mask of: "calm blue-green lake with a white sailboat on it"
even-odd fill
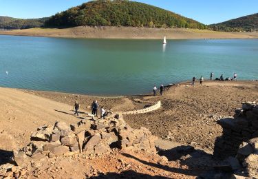
[[[0,36],[0,86],[78,94],[152,92],[224,74],[258,78],[258,40],[111,40]],[[6,74],[8,72],[8,74]],[[204,81],[205,83],[205,81]]]

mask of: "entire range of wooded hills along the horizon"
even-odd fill
[[[17,19],[0,16],[0,30],[28,28],[134,27],[190,28],[222,32],[253,32],[258,30],[258,13],[222,23],[204,25],[146,3],[127,0],[96,0],[58,12],[52,17]]]

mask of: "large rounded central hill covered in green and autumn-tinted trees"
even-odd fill
[[[83,3],[57,13],[45,21],[45,27],[79,25],[127,26],[149,28],[198,28],[206,25],[145,3],[126,0],[98,0]]]

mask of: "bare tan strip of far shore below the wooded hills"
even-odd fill
[[[89,27],[32,28],[0,31],[0,35],[82,39],[258,39],[258,32],[217,32],[185,28]]]

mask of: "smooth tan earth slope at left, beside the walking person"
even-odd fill
[[[14,138],[14,147],[21,147],[28,143],[30,132],[41,125],[53,123],[56,120],[67,123],[76,123],[80,120],[73,115],[72,105],[2,87],[0,88],[0,112],[0,132],[5,131]],[[2,148],[1,143],[0,148]]]

